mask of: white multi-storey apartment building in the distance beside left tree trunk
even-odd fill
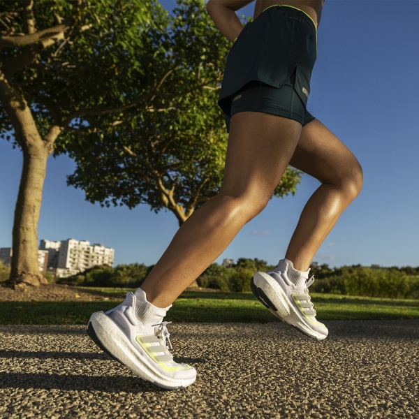
[[[112,266],[115,250],[87,240],[68,239],[62,242],[41,240],[40,248],[48,250],[48,270],[56,277],[71,277],[94,266]]]

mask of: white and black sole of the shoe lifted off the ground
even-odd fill
[[[293,304],[289,301],[281,286],[279,286],[277,281],[269,274],[265,274],[265,272],[256,272],[251,278],[250,286],[253,295],[269,309],[274,316],[286,323],[286,325],[291,326],[291,328],[312,339],[323,340],[328,336],[321,335],[319,332],[316,332],[316,330],[312,330],[309,328],[309,325],[291,323],[293,318],[298,318],[302,321],[302,318],[299,316],[299,309],[293,307]]]

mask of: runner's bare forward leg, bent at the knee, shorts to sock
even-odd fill
[[[360,193],[362,168],[318,119],[302,128],[290,164],[321,182],[302,210],[285,256],[296,270],[307,271],[340,214]]]

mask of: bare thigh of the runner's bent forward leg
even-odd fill
[[[362,186],[362,168],[351,150],[318,119],[305,125],[290,165],[322,183]]]

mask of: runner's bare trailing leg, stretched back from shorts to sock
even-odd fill
[[[220,192],[187,219],[141,288],[167,307],[263,210],[295,151],[301,124],[263,112],[233,115]]]

